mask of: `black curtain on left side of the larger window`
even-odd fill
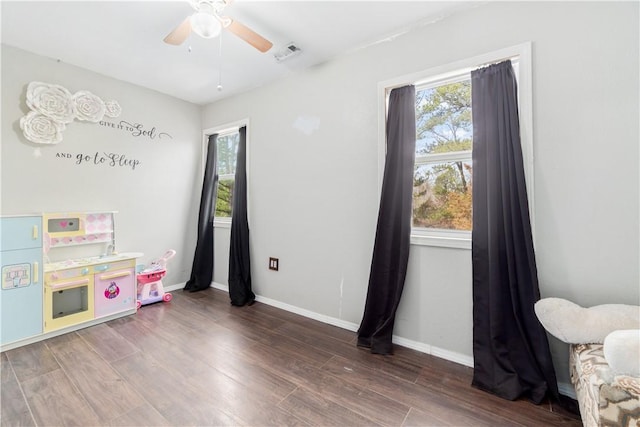
[[[409,260],[416,149],[414,86],[393,89],[387,115],[387,154],[369,288],[358,345],[392,354],[393,325]]]

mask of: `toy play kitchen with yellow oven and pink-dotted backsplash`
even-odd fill
[[[42,333],[1,351],[136,312],[139,252],[115,251],[116,212],[42,214]]]

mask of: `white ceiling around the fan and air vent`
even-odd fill
[[[475,3],[477,4],[477,3]],[[2,43],[174,97],[207,104],[426,25],[473,1],[235,0],[224,14],[273,42],[260,53],[228,31],[163,38],[193,13],[188,1],[6,1]],[[278,63],[294,42],[302,53]],[[222,84],[222,91],[217,90]]]

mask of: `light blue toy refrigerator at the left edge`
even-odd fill
[[[0,344],[42,333],[42,220],[0,218]]]

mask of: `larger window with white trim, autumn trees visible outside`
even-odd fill
[[[394,87],[416,87],[416,162],[411,244],[471,249],[471,71],[511,59],[518,80],[520,138],[533,218],[531,44],[524,43],[378,84],[380,123]],[[385,126],[379,126],[379,189],[384,174]]]

